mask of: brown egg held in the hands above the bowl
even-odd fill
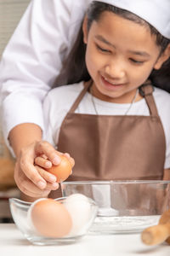
[[[61,162],[59,166],[52,166],[51,168],[46,169],[48,172],[54,174],[57,177],[57,182],[61,183],[65,181],[67,177],[71,175],[71,162],[66,158],[65,155],[60,155]]]

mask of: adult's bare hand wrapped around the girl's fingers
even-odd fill
[[[31,143],[23,148],[15,165],[14,179],[17,186],[21,192],[34,199],[48,196],[51,190],[59,188],[53,174],[43,170],[41,165],[35,166],[35,159],[43,154],[48,157],[49,167],[52,164],[59,165],[59,153],[50,143],[44,141]]]

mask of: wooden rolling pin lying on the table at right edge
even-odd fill
[[[170,244],[170,210],[161,215],[159,224],[145,229],[141,239],[146,245],[156,245],[163,241]]]

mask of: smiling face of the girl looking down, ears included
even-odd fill
[[[86,64],[94,80],[94,96],[107,102],[132,102],[136,89],[148,79],[153,68],[165,61],[150,29],[105,11],[87,29]],[[164,57],[163,57],[164,56]]]

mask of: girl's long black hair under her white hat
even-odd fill
[[[91,3],[88,8],[88,30],[90,29],[93,21],[98,21],[101,14],[105,11],[110,11],[116,15],[121,16],[122,18],[133,20],[142,26],[148,27],[150,29],[151,35],[156,37],[156,44],[161,49],[160,55],[167,48],[167,45],[170,44],[169,39],[163,37],[155,27],[151,26],[148,22],[141,19],[139,16],[134,15],[125,9],[120,9],[111,4],[100,3],[98,1]],[[85,54],[86,44],[83,43],[83,32],[81,26],[77,34],[77,40],[75,41],[75,44],[73,44],[70,54],[63,62],[63,67],[59,73],[58,78],[56,79],[54,87],[63,84],[79,83],[80,81],[88,81],[90,79],[90,75],[85,63]],[[170,58],[163,63],[161,69],[154,69],[150,73],[149,79],[154,86],[170,92]]]

